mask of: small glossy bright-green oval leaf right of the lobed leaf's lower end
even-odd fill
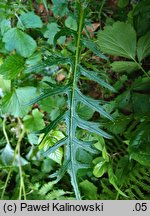
[[[100,158],[99,162],[94,166],[93,174],[100,178],[107,171],[107,162],[103,158]]]

